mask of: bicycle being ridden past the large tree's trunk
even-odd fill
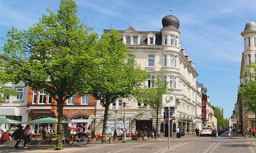
[[[72,145],[75,142],[75,138],[74,138],[75,134],[72,133],[71,136],[67,136],[64,139],[64,144],[65,145]],[[75,136],[76,137],[76,136]],[[79,139],[77,140],[77,142],[79,142],[81,145],[87,145],[90,141],[90,136],[86,135],[86,134],[82,134]]]

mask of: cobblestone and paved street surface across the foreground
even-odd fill
[[[170,149],[168,148],[168,138],[165,140],[148,140],[148,141],[127,141],[127,143],[120,143],[118,141],[114,144],[88,144],[81,146],[73,144],[71,146],[64,146],[64,150],[54,150],[54,145],[29,145],[28,149],[14,149],[12,146],[1,146],[1,153],[218,153],[218,152],[242,152],[242,153],[256,153],[256,139],[250,138],[245,140],[244,137],[234,137],[228,139],[227,132],[221,134],[219,138],[212,137],[182,137],[170,138]]]

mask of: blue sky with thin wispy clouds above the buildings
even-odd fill
[[[223,107],[228,118],[239,85],[243,38],[249,21],[256,22],[255,0],[76,0],[78,17],[94,32],[103,29],[160,31],[170,13],[180,20],[180,41],[195,62],[197,81],[208,88],[212,105]],[[60,0],[1,0],[1,37],[11,27],[26,30],[38,22],[46,8],[59,9]],[[3,42],[1,41],[1,46]]]

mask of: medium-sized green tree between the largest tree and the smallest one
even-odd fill
[[[109,105],[116,102],[117,98],[131,97],[135,89],[147,79],[147,74],[134,58],[129,59],[128,48],[118,31],[102,34],[96,52],[99,66],[90,74],[93,79],[88,83],[90,94],[105,107],[102,129],[102,144],[105,144]]]

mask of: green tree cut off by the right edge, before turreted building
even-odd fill
[[[240,94],[240,100],[242,101],[242,109],[246,112],[253,112],[255,114],[256,122],[256,63],[250,63],[247,65],[248,68],[253,70],[250,72],[244,68],[244,82],[241,83],[241,87],[238,89]]]

